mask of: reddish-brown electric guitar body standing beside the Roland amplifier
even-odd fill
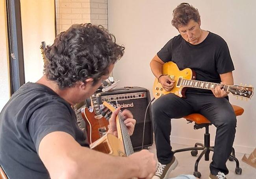
[[[83,120],[86,125],[86,132],[89,144],[92,144],[108,131],[108,120],[102,115],[96,115],[95,109],[90,112],[87,107],[82,109]]]

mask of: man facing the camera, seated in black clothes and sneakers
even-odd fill
[[[151,70],[163,89],[170,91],[175,83],[170,76],[162,74],[163,64],[169,61],[176,63],[180,70],[194,70],[194,79],[198,81],[233,85],[234,65],[226,42],[219,35],[200,28],[198,10],[188,3],[178,5],[173,16],[172,25],[180,35],[167,42],[150,62]],[[209,177],[226,179],[226,161],[236,132],[236,115],[227,95],[228,92],[220,86],[211,90],[188,88],[186,98],[168,93],[153,103],[153,127],[159,161],[154,179],[166,178],[178,164],[170,146],[171,118],[182,118],[195,112],[206,116],[217,127]]]

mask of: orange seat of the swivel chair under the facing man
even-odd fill
[[[240,116],[243,114],[243,108],[236,106],[236,105],[232,105],[236,116]],[[185,117],[183,117],[187,120],[191,120],[194,121],[197,124],[205,124],[205,123],[211,123],[206,117],[204,117],[202,114],[198,114],[198,113],[194,113],[194,114],[189,114]]]

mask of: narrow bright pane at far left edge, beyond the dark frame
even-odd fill
[[[0,0],[0,111],[10,98],[5,1]]]

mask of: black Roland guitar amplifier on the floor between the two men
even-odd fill
[[[144,118],[148,103],[150,102],[149,91],[141,87],[130,87],[115,89],[108,92],[100,92],[102,101],[109,101],[121,107],[121,110],[128,109],[136,119],[134,133],[131,136],[132,146],[135,150],[141,149],[143,142]],[[143,148],[152,146],[153,144],[153,127],[151,104],[148,107]]]

